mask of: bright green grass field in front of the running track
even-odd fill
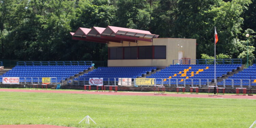
[[[248,99],[0,92],[0,125],[248,128],[255,108]],[[78,124],[86,115],[97,124]]]

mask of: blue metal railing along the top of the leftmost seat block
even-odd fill
[[[92,65],[92,61],[18,61],[17,66]]]

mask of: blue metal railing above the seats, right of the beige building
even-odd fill
[[[214,59],[181,59],[181,60],[172,60],[172,64],[182,64],[182,61],[186,61],[187,64],[214,64]],[[216,64],[242,64],[242,59],[216,59]]]

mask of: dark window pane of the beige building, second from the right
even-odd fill
[[[152,46],[140,46],[139,59],[152,59]]]

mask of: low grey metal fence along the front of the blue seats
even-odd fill
[[[65,83],[64,83],[65,82]],[[66,83],[67,82],[67,83]],[[62,84],[84,86],[90,85],[89,78],[78,78],[78,80],[68,80],[68,78],[51,77],[49,84]],[[0,82],[3,84],[3,82]],[[20,85],[42,84],[42,77],[19,77]],[[208,88],[214,85],[214,79],[164,79],[164,78],[103,78],[103,85],[125,86],[125,87],[153,87],[164,85],[166,87],[199,87]],[[256,89],[256,82],[253,79],[223,79],[217,81],[217,86],[224,88],[248,88]]]

